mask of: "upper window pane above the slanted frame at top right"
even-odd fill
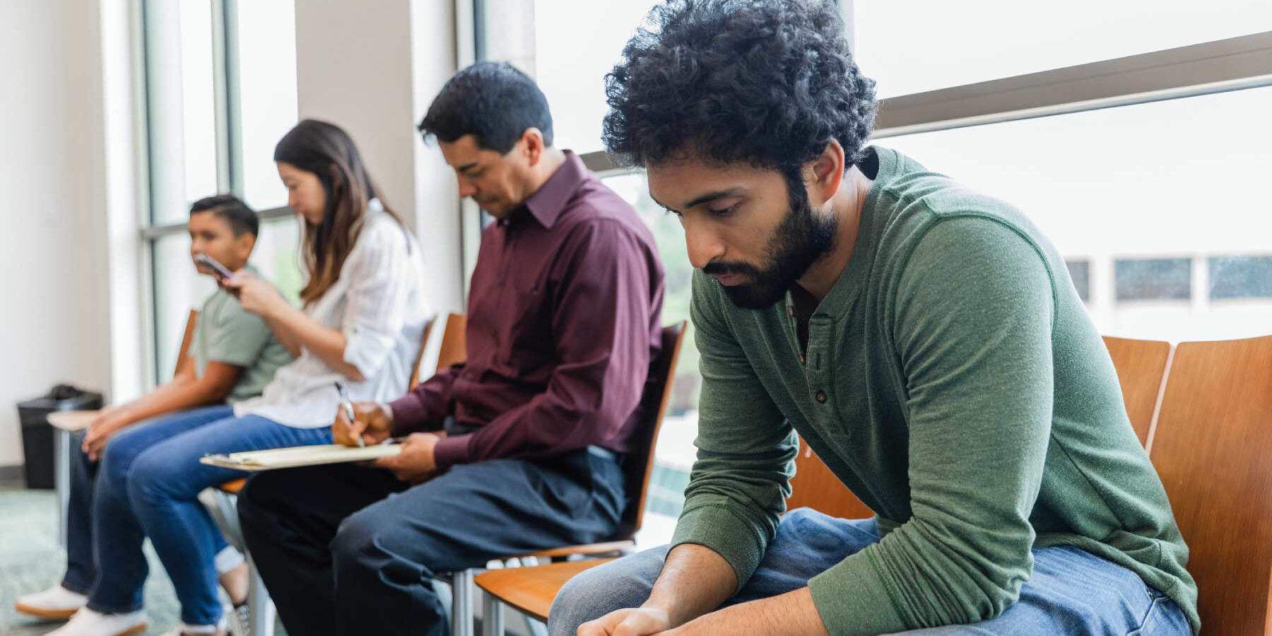
[[[880,97],[959,86],[1272,29],[1267,0],[851,0]]]

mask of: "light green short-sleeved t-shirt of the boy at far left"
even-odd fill
[[[254,273],[251,267],[248,271]],[[243,368],[225,398],[230,404],[259,396],[273,379],[273,371],[293,360],[265,321],[243,310],[238,299],[223,289],[209,296],[198,313],[191,355],[195,356],[195,374],[200,378],[207,363]]]

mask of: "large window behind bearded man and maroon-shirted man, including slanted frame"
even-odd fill
[[[558,145],[583,154],[653,229],[664,322],[687,317],[683,232],[641,173],[613,169],[599,139],[604,74],[655,3],[473,1],[477,59],[536,76]],[[1272,164],[1272,4],[838,5],[887,99],[875,142],[1023,210],[1065,257],[1102,332],[1180,341],[1269,331],[1272,215],[1252,192]],[[686,354],[658,446],[658,514],[678,511],[695,454],[692,337]]]

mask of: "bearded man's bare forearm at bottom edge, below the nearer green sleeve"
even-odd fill
[[[683,547],[683,546],[682,546]],[[813,594],[800,588],[777,597],[752,600],[701,616],[678,630],[677,636],[749,633],[753,636],[829,636],[813,604]]]

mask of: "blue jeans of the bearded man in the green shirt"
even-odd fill
[[[879,541],[874,519],[834,519],[801,508],[782,518],[777,536],[745,586],[726,605],[776,597]],[[552,636],[574,636],[579,625],[649,598],[668,548],[654,548],[575,576],[548,614]],[[1035,548],[1033,576],[1020,600],[973,625],[906,633],[929,636],[1063,633],[1117,636],[1191,635],[1183,611],[1135,572],[1074,547]],[[847,590],[846,593],[851,593]]]

